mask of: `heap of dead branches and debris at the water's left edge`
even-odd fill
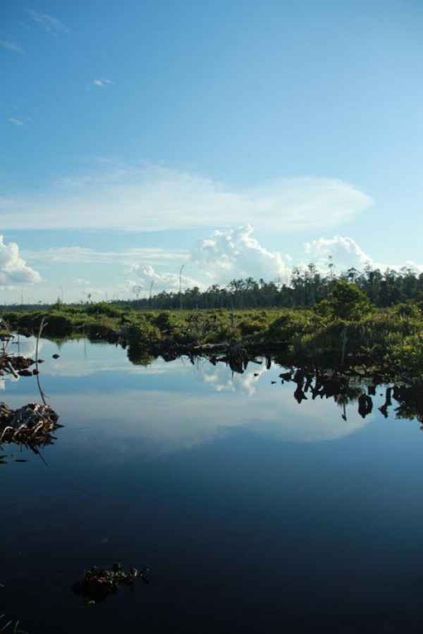
[[[16,442],[34,449],[37,445],[51,445],[56,440],[51,434],[63,427],[57,422],[59,415],[49,405],[28,403],[11,409],[0,403],[0,444]]]

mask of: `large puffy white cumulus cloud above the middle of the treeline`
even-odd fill
[[[250,225],[214,231],[194,244],[190,259],[206,271],[209,279],[221,282],[250,276],[273,280],[285,274],[287,267],[281,254],[262,247],[252,232]]]

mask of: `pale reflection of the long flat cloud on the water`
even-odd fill
[[[281,385],[272,387],[275,389],[257,390],[248,399],[243,392],[216,395],[124,390],[116,394],[80,394],[77,416],[75,397],[63,395],[55,400],[63,423],[69,420],[75,425],[75,418],[78,420],[73,442],[106,462],[124,461],[137,454],[160,456],[192,449],[240,428],[279,442],[337,440],[371,421],[370,417],[360,418],[355,406],[350,407],[348,419],[343,421],[340,409],[330,399],[298,405],[292,390]]]

